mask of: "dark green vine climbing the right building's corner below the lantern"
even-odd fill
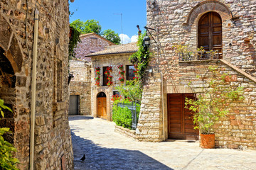
[[[149,49],[144,49],[143,47],[143,38],[145,35],[146,33],[143,33],[139,36],[139,40],[137,42],[139,50],[129,57],[130,62],[138,65],[139,80],[144,79],[146,68],[149,65],[149,59],[151,55]]]

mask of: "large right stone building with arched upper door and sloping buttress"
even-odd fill
[[[196,136],[182,107],[184,98],[203,93],[204,82],[197,75],[218,66],[231,77],[230,87],[244,87],[245,99],[232,103],[228,115],[215,125],[216,146],[255,149],[256,1],[147,0],[146,4],[147,26],[156,29],[149,31],[157,44],[151,44],[154,56],[149,69],[154,71],[147,74],[137,139],[160,142]],[[218,50],[218,57],[184,60],[174,45],[190,51],[201,46]],[[178,114],[173,112],[176,107]]]

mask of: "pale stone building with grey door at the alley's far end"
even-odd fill
[[[70,108],[69,115],[91,115],[92,62],[70,60]],[[88,104],[89,103],[89,104]]]

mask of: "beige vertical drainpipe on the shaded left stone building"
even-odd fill
[[[32,93],[31,93],[31,141],[30,141],[30,170],[33,170],[34,147],[35,147],[35,111],[36,111],[36,63],[38,46],[38,16],[39,11],[35,11],[34,43],[33,43],[33,69],[32,69]]]

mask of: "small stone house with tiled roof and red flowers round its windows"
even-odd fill
[[[137,52],[138,47],[137,43],[129,43],[126,45],[114,45],[108,47],[107,50],[102,50],[100,52],[95,52],[93,54],[87,55],[87,57],[92,58],[92,115],[94,117],[104,118],[106,120],[112,120],[112,96],[119,94],[115,86],[118,86],[122,82],[119,81],[121,75],[119,74],[119,69],[117,66],[123,65],[124,67],[124,79],[129,80],[134,77],[134,65],[129,62],[129,56],[134,52]],[[95,77],[96,67],[100,67],[100,83],[97,86]],[[112,85],[107,86],[107,76],[104,74],[107,70],[107,67],[112,67]]]

